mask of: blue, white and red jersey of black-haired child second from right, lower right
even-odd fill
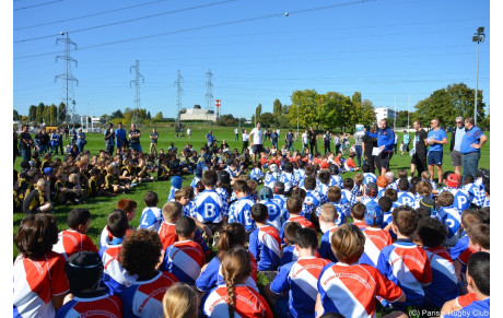
[[[457,278],[448,251],[442,246],[424,247],[432,268],[432,283],[425,290],[425,305],[442,307],[458,296]]]

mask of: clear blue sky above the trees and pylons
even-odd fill
[[[71,57],[79,114],[132,107],[136,60],[144,76],[141,107],[152,116],[176,116],[178,70],[183,107],[206,107],[209,69],[222,114],[249,118],[258,104],[272,111],[276,98],[290,104],[292,92],[305,89],[359,91],[375,106],[394,107],[396,97],[397,109],[408,108],[410,94],[412,109],[448,84],[475,89],[471,36],[479,26],[479,90],[489,104],[487,0],[14,0],[13,107],[27,115],[30,105],[61,102],[55,76],[63,62],[55,59],[63,45],[56,39],[69,32],[78,45]]]

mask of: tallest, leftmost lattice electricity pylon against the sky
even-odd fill
[[[63,121],[68,120],[68,109],[70,108],[70,104],[72,104],[71,108],[71,120],[73,122],[73,116],[75,115],[75,99],[73,96],[73,82],[77,82],[77,85],[79,85],[79,80],[77,80],[72,74],[71,74],[71,63],[70,62],[75,62],[75,68],[78,66],[77,60],[70,56],[70,45],[74,46],[74,49],[77,50],[77,44],[70,39],[68,36],[68,32],[61,32],[61,36],[65,37],[58,37],[56,39],[56,45],[58,45],[59,42],[65,43],[65,55],[63,56],[57,56],[56,57],[56,62],[59,59],[63,59],[63,73],[55,76],[55,83],[58,79],[62,80],[61,81],[61,101],[65,103],[63,108],[58,107],[58,116],[56,119],[57,123],[60,123],[59,118],[65,118]]]

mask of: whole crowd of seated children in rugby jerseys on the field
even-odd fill
[[[23,162],[14,317],[489,317],[487,170],[465,185],[447,174],[437,188],[428,173],[376,177],[369,165],[343,179],[354,163],[331,153],[262,153],[250,170],[247,153],[187,145],[182,157]],[[133,229],[137,202],[118,201],[98,247],[90,211],[73,209],[59,234],[38,213],[127,192],[153,173],[171,179],[167,202],[145,192]],[[259,273],[270,281],[261,292]]]

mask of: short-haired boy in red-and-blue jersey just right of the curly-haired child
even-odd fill
[[[196,222],[190,217],[182,216],[176,221],[175,229],[178,242],[166,248],[161,269],[169,271],[180,282],[194,285],[206,262],[201,246],[194,242]]]

